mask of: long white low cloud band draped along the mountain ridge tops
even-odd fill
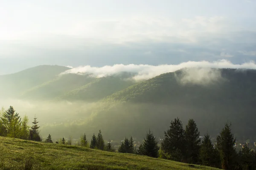
[[[232,62],[221,59],[214,62],[208,61],[189,61],[183,62],[178,65],[106,65],[104,67],[91,67],[90,65],[80,66],[77,68],[70,69],[65,71],[62,74],[91,74],[93,77],[107,77],[114,74],[118,74],[120,72],[133,72],[137,75],[133,77],[135,80],[143,80],[143,79],[150,79],[156,77],[160,74],[174,72],[181,68],[251,68],[256,69],[256,64],[252,62],[246,62],[243,64],[233,64]]]

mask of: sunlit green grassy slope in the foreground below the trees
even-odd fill
[[[0,170],[214,170],[164,159],[0,136]]]

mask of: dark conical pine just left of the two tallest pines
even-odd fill
[[[158,142],[155,139],[153,133],[151,133],[151,131],[149,130],[146,134],[146,139],[144,138],[143,142],[143,155],[157,158],[159,150],[157,143]]]

